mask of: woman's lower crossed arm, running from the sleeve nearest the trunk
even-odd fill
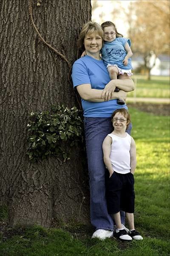
[[[104,102],[105,98],[102,98],[103,90],[92,89],[91,84],[80,84],[77,86],[77,91],[82,99],[85,99],[89,102]],[[126,99],[126,93],[123,90],[119,92],[111,93],[110,99]]]

